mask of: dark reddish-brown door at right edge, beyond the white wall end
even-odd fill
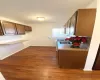
[[[100,45],[98,48],[97,56],[93,65],[93,70],[100,70]]]

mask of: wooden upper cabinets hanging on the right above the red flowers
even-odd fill
[[[94,23],[96,18],[96,9],[79,9],[74,15],[69,19],[70,26],[69,33],[70,35],[76,36],[92,36]],[[68,22],[69,22],[68,20]]]

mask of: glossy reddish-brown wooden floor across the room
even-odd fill
[[[55,48],[29,47],[0,61],[6,80],[100,80],[100,71],[60,69]]]

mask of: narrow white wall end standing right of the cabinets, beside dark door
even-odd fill
[[[84,70],[92,70],[99,44],[100,44],[100,0],[97,0],[96,21]]]

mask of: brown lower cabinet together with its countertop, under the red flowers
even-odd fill
[[[84,69],[89,44],[81,44],[80,48],[71,48],[71,44],[57,41],[57,62],[60,68]]]

